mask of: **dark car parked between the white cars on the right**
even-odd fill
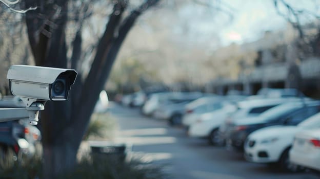
[[[232,130],[226,133],[227,146],[243,150],[251,132],[273,125],[296,125],[319,111],[319,101],[293,102],[271,108],[258,117],[235,121]]]

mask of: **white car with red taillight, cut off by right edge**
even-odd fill
[[[320,128],[298,132],[289,159],[294,164],[320,171]]]

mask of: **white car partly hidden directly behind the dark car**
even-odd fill
[[[226,140],[226,133],[233,128],[233,122],[239,119],[246,119],[249,117],[256,117],[262,114],[264,111],[275,107],[279,104],[283,104],[289,101],[299,101],[298,98],[261,98],[261,99],[251,99],[246,101],[241,101],[237,103],[237,110],[234,113],[228,115],[224,120],[217,124],[213,125],[216,129],[218,129],[218,141],[224,143]],[[206,125],[206,124],[202,124]],[[209,124],[207,124],[209,126]],[[212,127],[211,127],[212,128]]]

